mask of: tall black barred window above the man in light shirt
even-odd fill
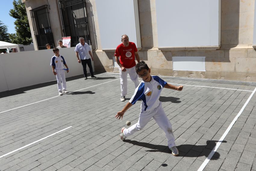
[[[64,36],[71,36],[71,46],[79,43],[79,37],[91,45],[85,0],[59,0]]]

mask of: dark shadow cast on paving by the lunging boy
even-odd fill
[[[150,144],[150,143],[146,143],[146,142],[138,142],[138,141],[129,140],[129,139],[126,139],[125,142],[128,142],[128,143],[133,144],[133,145],[137,145],[137,146],[152,149],[152,150],[146,150],[147,152],[171,153],[169,147],[166,146],[166,145],[154,145],[154,144]],[[201,157],[201,156],[208,157],[208,155],[211,153],[211,150],[216,145],[215,142],[219,142],[219,141],[207,140],[206,141],[207,145],[183,144],[183,145],[179,145],[179,146],[176,146],[176,147],[180,151],[180,154],[179,154],[180,157]],[[227,141],[222,141],[222,142],[227,142]],[[197,153],[189,152],[190,150],[197,151]],[[217,160],[217,158],[219,158],[219,157],[220,157],[220,154],[218,152],[215,152],[214,158],[212,158],[211,160]]]

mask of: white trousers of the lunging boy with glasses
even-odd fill
[[[141,112],[139,114],[138,122],[130,126],[128,129],[123,130],[124,136],[128,137],[130,135],[133,135],[135,132],[142,130],[146,126],[146,124],[151,120],[152,117],[156,121],[158,126],[164,130],[165,136],[168,141],[168,147],[171,148],[173,146],[176,146],[172,131],[172,124],[170,123],[169,119],[167,118],[164,112],[162,102],[160,102],[158,107],[156,107],[154,110],[148,112]]]

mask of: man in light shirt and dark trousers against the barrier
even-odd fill
[[[92,62],[91,62],[91,58],[93,61],[92,52],[91,52],[92,49],[90,48],[90,46],[87,43],[84,42],[83,37],[79,38],[79,42],[80,43],[78,43],[76,45],[75,51],[76,51],[77,61],[79,63],[82,63],[82,65],[83,65],[84,79],[87,79],[86,64],[89,67],[91,77],[96,78],[96,76],[93,75],[93,70],[92,70]],[[79,56],[80,56],[80,58],[79,58]],[[90,56],[91,56],[91,58],[90,58]]]

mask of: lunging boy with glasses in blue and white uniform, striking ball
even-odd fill
[[[127,136],[133,135],[135,132],[143,129],[153,117],[159,127],[164,130],[168,141],[168,147],[172,151],[172,154],[178,156],[179,151],[175,145],[172,125],[162,108],[162,102],[159,101],[159,97],[163,88],[181,91],[183,86],[180,85],[176,87],[168,84],[158,76],[151,76],[150,69],[144,61],[136,64],[135,69],[139,77],[142,78],[142,82],[140,82],[139,86],[136,88],[130,101],[126,104],[123,110],[117,112],[115,117],[117,119],[123,119],[124,113],[139,99],[142,100],[141,112],[136,124],[130,126],[128,129],[121,129],[120,138],[124,141]]]

